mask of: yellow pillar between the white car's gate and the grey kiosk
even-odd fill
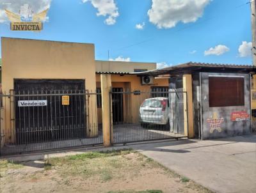
[[[188,134],[189,138],[193,138],[194,134],[194,116],[193,116],[193,93],[192,93],[192,75],[183,75],[183,91],[184,93],[184,134]],[[188,123],[188,124],[186,124]]]

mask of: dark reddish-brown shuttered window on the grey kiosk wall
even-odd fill
[[[209,107],[243,105],[243,77],[209,77]]]

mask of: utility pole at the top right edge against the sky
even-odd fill
[[[256,0],[252,0],[251,10],[252,10],[252,63],[256,66]]]

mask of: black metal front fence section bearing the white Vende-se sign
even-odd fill
[[[0,95],[0,155],[102,144],[98,95],[78,89]]]

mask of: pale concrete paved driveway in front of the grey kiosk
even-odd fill
[[[132,148],[215,192],[256,192],[256,135]]]

